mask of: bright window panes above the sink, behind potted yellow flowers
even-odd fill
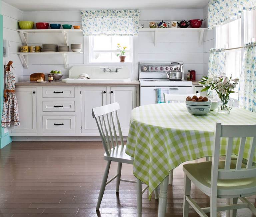
[[[90,62],[120,62],[117,44],[127,47],[125,62],[132,62],[132,36],[90,36]]]

